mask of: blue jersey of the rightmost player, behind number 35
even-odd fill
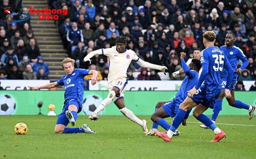
[[[234,70],[234,77],[238,77],[238,74],[235,72],[237,69],[236,65],[239,59],[241,59],[242,61],[246,60],[246,56],[244,55],[243,51],[236,46],[227,48],[226,45],[220,47],[220,50],[227,57],[232,69]],[[223,68],[221,76],[227,77],[228,71],[226,71],[226,69]]]

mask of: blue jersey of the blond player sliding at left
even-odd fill
[[[58,85],[65,86],[65,101],[77,99],[82,103],[84,97],[84,76],[88,75],[90,70],[74,69],[71,75],[65,75],[57,81]]]

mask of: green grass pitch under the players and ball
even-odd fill
[[[151,127],[150,116],[140,118]],[[77,126],[86,122],[96,134],[54,134],[55,121],[56,117],[49,116],[0,116],[0,159],[256,158],[256,118],[249,120],[248,116],[219,116],[219,123],[254,125],[219,125],[227,133],[219,143],[210,143],[213,132],[199,128],[198,123],[180,126],[181,135],[166,143],[156,136],[144,136],[142,129],[124,116],[100,116],[98,121],[79,116]],[[14,133],[18,122],[28,125],[26,135]],[[190,116],[188,122],[197,120]]]

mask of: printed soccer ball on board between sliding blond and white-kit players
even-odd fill
[[[84,98],[83,100],[84,114],[88,116],[91,115],[92,112],[94,112],[94,110],[98,108],[101,102],[102,102],[102,99],[99,96],[96,96],[96,95],[86,96],[86,98]],[[102,111],[99,114],[102,114]]]

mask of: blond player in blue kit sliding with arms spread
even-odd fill
[[[92,85],[96,83],[97,71],[74,69],[74,59],[65,58],[62,61],[62,67],[66,72],[57,82],[51,82],[43,86],[30,86],[29,90],[38,90],[44,88],[54,88],[59,85],[65,86],[65,102],[63,110],[58,116],[55,133],[95,133],[86,124],[81,128],[66,128],[68,123],[76,125],[77,114],[82,110],[82,100],[84,97],[84,76],[92,74]]]

